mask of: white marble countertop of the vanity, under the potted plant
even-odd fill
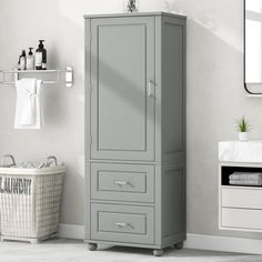
[[[229,162],[261,162],[262,141],[224,141],[219,142],[219,160]]]

